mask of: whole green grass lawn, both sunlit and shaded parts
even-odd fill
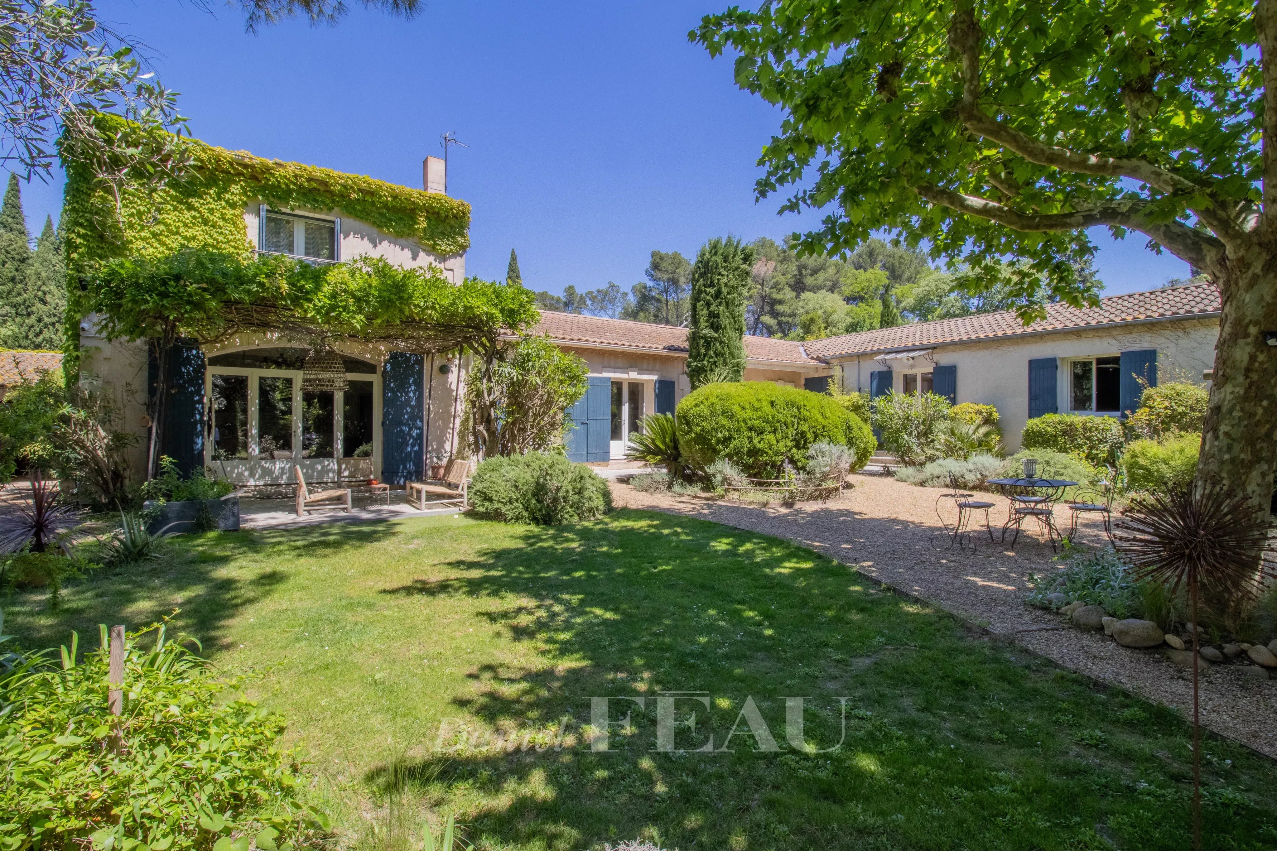
[[[442,517],[211,535],[68,588],[57,614],[38,593],[10,602],[6,632],[28,644],[181,607],[218,665],[262,671],[257,697],[289,717],[352,836],[393,801],[407,822],[455,811],[481,848],[1188,846],[1175,713],[713,523],[618,512],[559,528]],[[655,751],[660,690],[707,693],[707,709],[678,703],[679,720],[696,709],[679,748],[720,746],[752,697],[783,751],[755,753],[743,722],[733,753]],[[584,745],[593,695],[647,698],[614,753]],[[797,695],[821,748],[849,698],[839,750],[785,744]],[[513,750],[438,753],[446,718]],[[1205,754],[1205,847],[1277,846],[1273,763],[1211,736]]]

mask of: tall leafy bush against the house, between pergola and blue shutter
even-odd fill
[[[585,361],[549,337],[522,337],[503,347],[490,370],[466,383],[467,420],[475,425],[474,449],[515,455],[559,445],[567,411],[585,396]]]

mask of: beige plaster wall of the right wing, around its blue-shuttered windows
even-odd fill
[[[1073,329],[1025,336],[1019,339],[977,341],[937,346],[932,351],[936,364],[958,366],[958,402],[996,404],[1001,417],[1008,449],[1020,444],[1020,431],[1028,420],[1028,362],[1033,359],[1056,357],[1060,371],[1056,381],[1057,408],[1069,412],[1069,370],[1071,357],[1108,357],[1124,351],[1156,348],[1157,380],[1189,380],[1202,383],[1203,370],[1214,364],[1214,343],[1220,333],[1217,318],[1175,319],[1167,322],[1131,323],[1111,328]],[[867,392],[870,373],[881,369],[872,357],[840,359],[845,389]],[[890,361],[893,388],[904,389],[904,373],[930,371],[930,361]],[[857,371],[857,366],[859,367]]]

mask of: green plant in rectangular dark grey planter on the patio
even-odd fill
[[[197,470],[183,478],[172,458],[160,459],[160,475],[142,486],[147,531],[207,532],[239,529],[239,491],[222,478],[208,478]]]

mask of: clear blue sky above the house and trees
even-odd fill
[[[562,292],[642,279],[653,249],[801,230],[753,200],[779,110],[741,92],[732,60],[687,42],[711,3],[430,0],[405,23],[358,8],[336,27],[244,32],[238,10],[190,0],[101,0],[181,92],[193,133],[217,145],[421,185],[421,158],[453,130],[450,194],[474,207],[467,272]],[[57,217],[61,179],[26,188],[32,228]],[[1107,292],[1157,287],[1188,267],[1102,231]]]

